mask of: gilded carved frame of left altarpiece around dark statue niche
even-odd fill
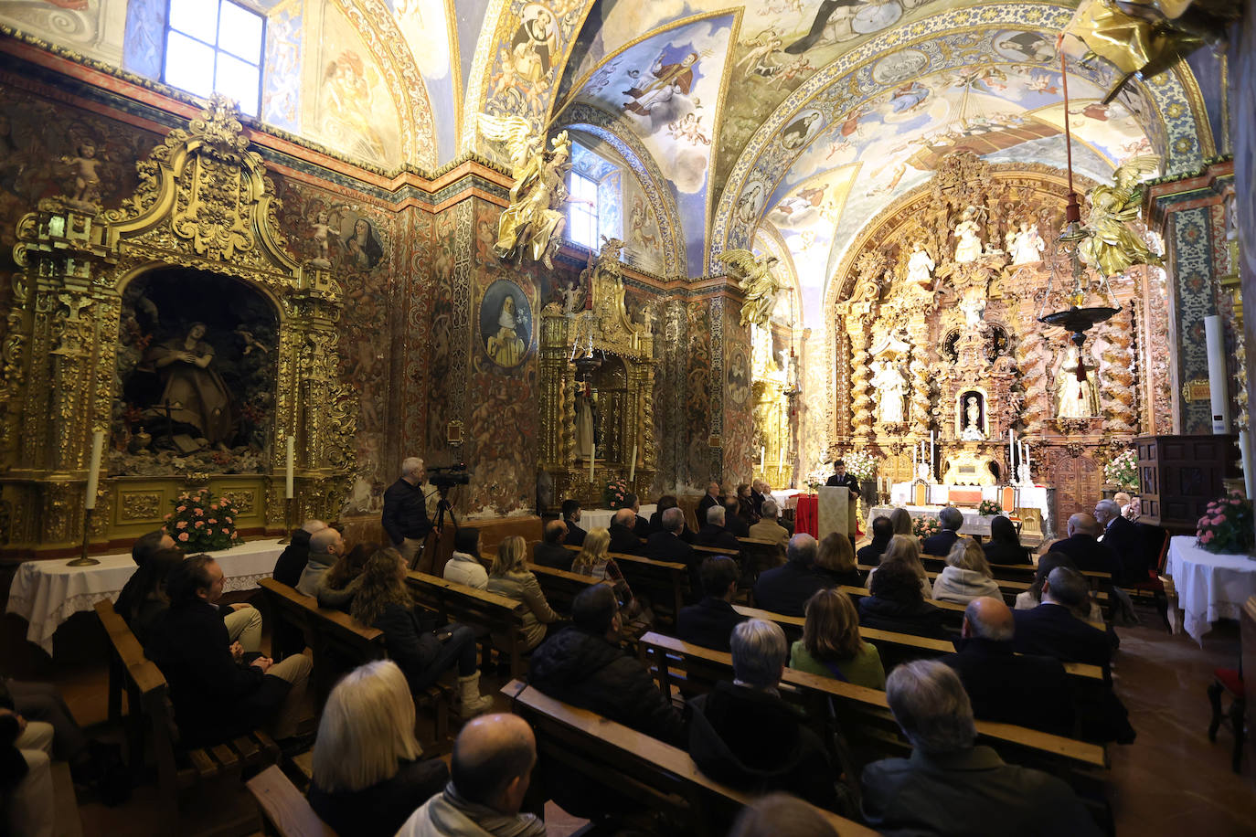
[[[170,501],[198,486],[237,503],[237,528],[280,528],[289,435],[295,437],[295,517],[335,516],[348,489],[358,408],[338,376],[342,289],[324,267],[289,253],[274,186],[234,109],[215,98],[137,171],[139,187],[119,208],[50,198],[18,223],[20,272],[13,277],[0,366],[6,550],[58,550],[79,541],[95,429],[107,432],[95,543],[156,528]],[[168,269],[232,277],[274,306],[274,415],[256,473],[109,473],[109,453],[129,442],[108,433],[121,398],[123,294],[138,277]]]

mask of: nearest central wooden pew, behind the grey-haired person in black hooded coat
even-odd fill
[[[549,698],[515,680],[502,686],[515,714],[536,733],[541,758],[554,759],[638,802],[644,809],[683,818],[692,833],[722,834],[750,794],[707,778],[685,750]],[[842,837],[875,832],[823,812]]]

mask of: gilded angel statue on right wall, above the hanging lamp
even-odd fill
[[[1086,196],[1090,201],[1086,227],[1091,236],[1081,242],[1081,259],[1107,277],[1129,270],[1132,265],[1161,264],[1161,257],[1129,227],[1138,220],[1143,202],[1139,183],[1159,166],[1159,158],[1153,154],[1134,157],[1113,173],[1113,186],[1096,186]]]

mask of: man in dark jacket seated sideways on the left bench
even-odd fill
[[[222,567],[207,555],[172,568],[166,594],[170,609],[153,626],[144,654],[170,684],[182,744],[220,744],[257,727],[269,727],[279,739],[295,734],[310,658],[294,654],[275,663],[260,656],[245,664],[219,612]]]

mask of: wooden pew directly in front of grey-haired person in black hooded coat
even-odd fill
[[[718,680],[732,680],[731,654],[656,632],[642,636],[638,649],[664,694],[672,694],[672,685],[685,695],[702,694]],[[809,718],[835,722],[859,762],[902,755],[911,749],[889,713],[884,691],[795,669],[785,669],[781,685],[781,696],[803,705]],[[987,720],[976,722],[976,729],[980,743],[996,749],[1007,762],[1064,778],[1088,803],[1104,798],[1108,753],[1102,745]],[[1096,819],[1107,822],[1107,803],[1098,807],[1102,809],[1095,812]]]

